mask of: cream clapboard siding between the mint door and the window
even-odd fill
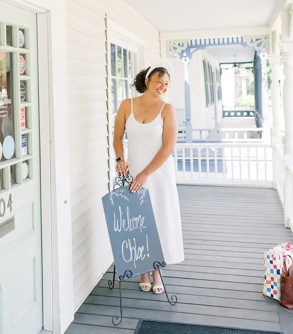
[[[75,310],[113,259],[101,202],[109,191],[106,14],[145,40],[146,67],[160,57],[158,30],[124,0],[67,0]]]

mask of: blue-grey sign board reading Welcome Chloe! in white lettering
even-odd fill
[[[117,276],[120,281],[165,267],[149,190],[129,185],[102,197]]]

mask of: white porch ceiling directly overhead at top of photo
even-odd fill
[[[272,26],[285,1],[126,0],[160,32]]]

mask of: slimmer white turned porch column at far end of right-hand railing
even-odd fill
[[[272,146],[273,146],[273,188],[276,189],[276,180],[279,173],[279,154],[275,146],[282,149],[282,137],[281,137],[281,90],[280,83],[282,77],[282,68],[280,66],[281,56],[280,49],[277,48],[275,54],[268,56],[271,68],[271,102],[272,102],[272,116],[273,116],[273,129],[272,129]]]

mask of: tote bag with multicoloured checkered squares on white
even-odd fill
[[[287,268],[291,264],[287,255],[293,254],[293,243],[281,243],[265,252],[264,290],[263,295],[281,299],[281,277],[284,269],[284,261]]]

